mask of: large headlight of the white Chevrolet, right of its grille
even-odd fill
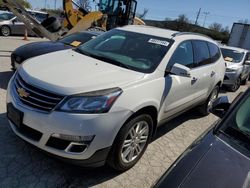
[[[121,93],[120,88],[112,88],[69,96],[58,110],[72,113],[106,113]]]

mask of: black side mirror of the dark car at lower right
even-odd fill
[[[222,96],[216,99],[213,104],[210,112],[216,115],[219,118],[223,118],[228,109],[230,108],[230,102],[227,96]]]

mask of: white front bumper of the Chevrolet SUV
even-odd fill
[[[42,113],[26,107],[19,101],[18,97],[15,97],[16,93],[12,89],[12,80],[13,78],[9,82],[7,90],[7,104],[11,103],[24,114],[22,129],[17,128],[10,121],[12,130],[23,140],[62,159],[71,161],[90,160],[91,163],[95,162],[93,159],[98,160],[96,162],[100,162],[100,159],[105,160],[107,152],[103,152],[105,153],[102,154],[103,157],[100,157],[99,154],[99,157],[96,157],[96,153],[112,146],[121,126],[132,114],[129,110],[104,114],[73,114],[58,111]],[[86,148],[83,151],[72,152],[69,150],[69,145],[75,144],[75,142],[62,143],[61,140],[55,140],[51,137],[53,134],[94,136],[94,138],[88,143],[84,143]],[[38,137],[34,138],[34,135],[38,135]],[[59,147],[57,147],[58,145]],[[65,147],[62,147],[62,145]],[[105,151],[107,150],[105,149]]]

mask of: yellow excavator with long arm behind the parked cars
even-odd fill
[[[56,18],[49,17],[39,23],[15,0],[3,0],[3,2],[36,35],[54,41],[65,34],[65,30],[61,29],[61,24]],[[67,34],[83,30],[107,31],[129,24],[145,24],[135,16],[136,0],[99,0],[97,7],[97,11],[89,11],[74,0],[63,0],[65,16],[63,28],[67,28]]]

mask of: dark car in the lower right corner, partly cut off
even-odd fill
[[[177,159],[155,187],[250,187],[250,88],[231,106],[225,97],[217,99],[211,111],[222,119]]]

